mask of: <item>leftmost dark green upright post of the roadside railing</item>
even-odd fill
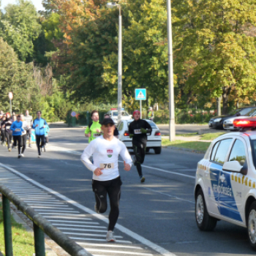
[[[10,201],[3,194],[1,195],[1,198],[3,202],[5,255],[13,256]]]

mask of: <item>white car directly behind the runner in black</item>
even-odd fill
[[[129,124],[131,124],[133,120],[123,120],[117,124],[117,129],[119,132],[119,140],[121,140],[127,148],[132,148],[132,139],[129,138]],[[150,148],[154,149],[155,154],[161,154],[162,151],[162,136],[157,124],[154,121],[146,119],[148,124],[150,124],[152,128],[151,135],[148,135],[148,142],[146,146],[146,152],[150,150]]]

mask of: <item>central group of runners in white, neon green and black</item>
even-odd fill
[[[132,138],[132,146],[135,154],[133,161],[137,167],[140,182],[145,181],[141,165],[146,154],[147,134],[152,132],[150,124],[140,119],[140,111],[133,113],[134,121],[129,124],[129,137]],[[91,112],[92,123],[85,130],[89,138],[89,146],[83,151],[81,161],[93,172],[92,190],[95,195],[94,209],[98,214],[107,210],[107,195],[110,200],[109,225],[106,236],[107,241],[116,241],[113,230],[119,215],[119,200],[121,197],[121,178],[118,171],[118,156],[124,160],[124,170],[132,167],[132,158],[121,140],[118,140],[114,132],[117,131],[113,120],[109,115],[99,123],[97,110]],[[117,131],[118,132],[118,131]],[[92,161],[90,160],[92,156]]]

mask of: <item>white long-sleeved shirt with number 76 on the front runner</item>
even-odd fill
[[[132,166],[132,158],[129,155],[127,147],[117,138],[113,137],[112,140],[105,140],[103,135],[95,140],[91,140],[89,146],[83,151],[81,161],[86,167],[94,172],[97,167],[103,168],[102,175],[96,176],[93,174],[93,179],[97,181],[110,181],[119,176],[118,171],[118,155],[124,161]],[[94,164],[91,163],[89,158],[93,155]]]

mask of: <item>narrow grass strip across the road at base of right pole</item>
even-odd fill
[[[204,141],[184,141],[184,140],[175,140],[170,141],[165,138],[162,138],[162,146],[173,146],[177,148],[189,148],[195,151],[206,151],[210,142]]]

